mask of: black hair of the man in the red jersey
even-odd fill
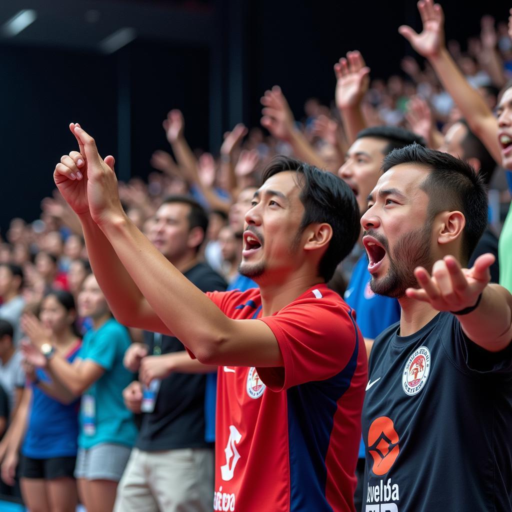
[[[262,183],[274,174],[287,170],[297,173],[297,183],[302,187],[300,199],[304,205],[304,215],[297,239],[310,224],[327,223],[332,227],[329,247],[318,264],[318,273],[327,282],[359,238],[359,208],[355,195],[337,176],[285,156],[271,160],[263,171]]]

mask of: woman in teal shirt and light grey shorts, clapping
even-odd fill
[[[32,345],[26,357],[75,396],[82,395],[75,477],[88,512],[103,512],[114,506],[117,483],[137,434],[122,398],[123,389],[133,380],[123,366],[131,340],[126,328],[112,317],[93,275],[83,283],[78,311],[91,318],[93,329],[84,335],[73,364],[49,343]]]

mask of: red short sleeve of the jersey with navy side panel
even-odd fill
[[[272,391],[338,374],[352,357],[359,336],[349,312],[326,298],[295,301],[261,321],[274,333],[284,361],[283,368],[258,368]]]

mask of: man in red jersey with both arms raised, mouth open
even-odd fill
[[[54,173],[120,322],[173,333],[219,366],[214,510],[353,510],[364,341],[326,282],[359,236],[336,176],[279,157],[247,212],[240,272],[260,289],[203,294],[122,210],[114,158],[71,124],[80,152]]]

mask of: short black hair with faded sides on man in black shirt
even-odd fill
[[[458,210],[464,215],[461,263],[467,264],[487,226],[487,187],[482,177],[463,160],[419,144],[392,151],[383,160],[382,171],[407,163],[430,170],[420,185],[429,196],[430,219],[441,211]]]

